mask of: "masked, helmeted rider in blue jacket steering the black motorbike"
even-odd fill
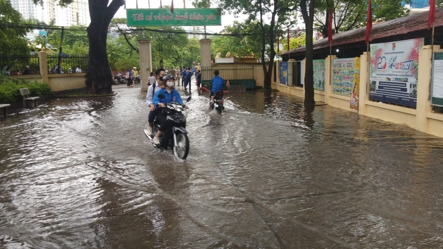
[[[157,107],[157,120],[160,122],[160,128],[157,131],[157,134],[153,138],[154,144],[160,144],[160,135],[164,130],[168,130],[168,122],[166,119],[166,115],[160,111],[162,107],[165,107],[164,104],[169,102],[178,102],[183,105],[183,101],[181,100],[180,93],[174,89],[175,78],[172,74],[166,74],[163,77],[164,85],[158,90],[153,98],[153,104]],[[163,94],[164,98],[160,99],[158,97],[159,94]],[[160,107],[160,108],[159,108]],[[185,106],[188,109],[188,106]]]

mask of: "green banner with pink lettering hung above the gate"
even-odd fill
[[[126,9],[127,26],[220,26],[219,9]]]

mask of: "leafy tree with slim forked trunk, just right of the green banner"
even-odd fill
[[[257,22],[261,35],[261,58],[264,72],[265,89],[271,88],[273,62],[275,56],[275,31],[282,25],[291,25],[296,18],[297,0],[222,0],[220,7],[234,14],[248,14],[250,22]],[[266,66],[265,54],[269,54]]]

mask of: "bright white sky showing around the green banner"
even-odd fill
[[[187,9],[192,9],[194,6],[192,6],[192,2],[190,0],[184,0],[186,4]],[[171,0],[162,0],[161,2],[163,5],[171,5]],[[151,9],[157,9],[160,8],[160,0],[150,0]],[[136,0],[126,0],[126,8],[128,9],[135,9],[137,5]],[[217,8],[218,6],[211,5],[211,8]],[[149,4],[147,0],[138,1],[138,8],[139,9],[149,9]],[[174,8],[181,9],[183,8],[183,0],[174,0]],[[120,7],[120,9],[117,11],[116,15],[114,17],[126,17],[126,10],[124,9],[124,6]],[[238,22],[243,22],[247,18],[246,15],[241,15],[237,18],[234,17],[234,15],[223,15],[222,16],[222,26],[207,26],[206,30],[208,33],[218,33],[224,29],[224,26],[232,25],[234,20],[237,20]],[[189,30],[188,27],[183,27],[186,30]]]

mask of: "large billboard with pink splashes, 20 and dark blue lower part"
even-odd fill
[[[417,106],[418,51],[423,39],[371,44],[369,99]]]

